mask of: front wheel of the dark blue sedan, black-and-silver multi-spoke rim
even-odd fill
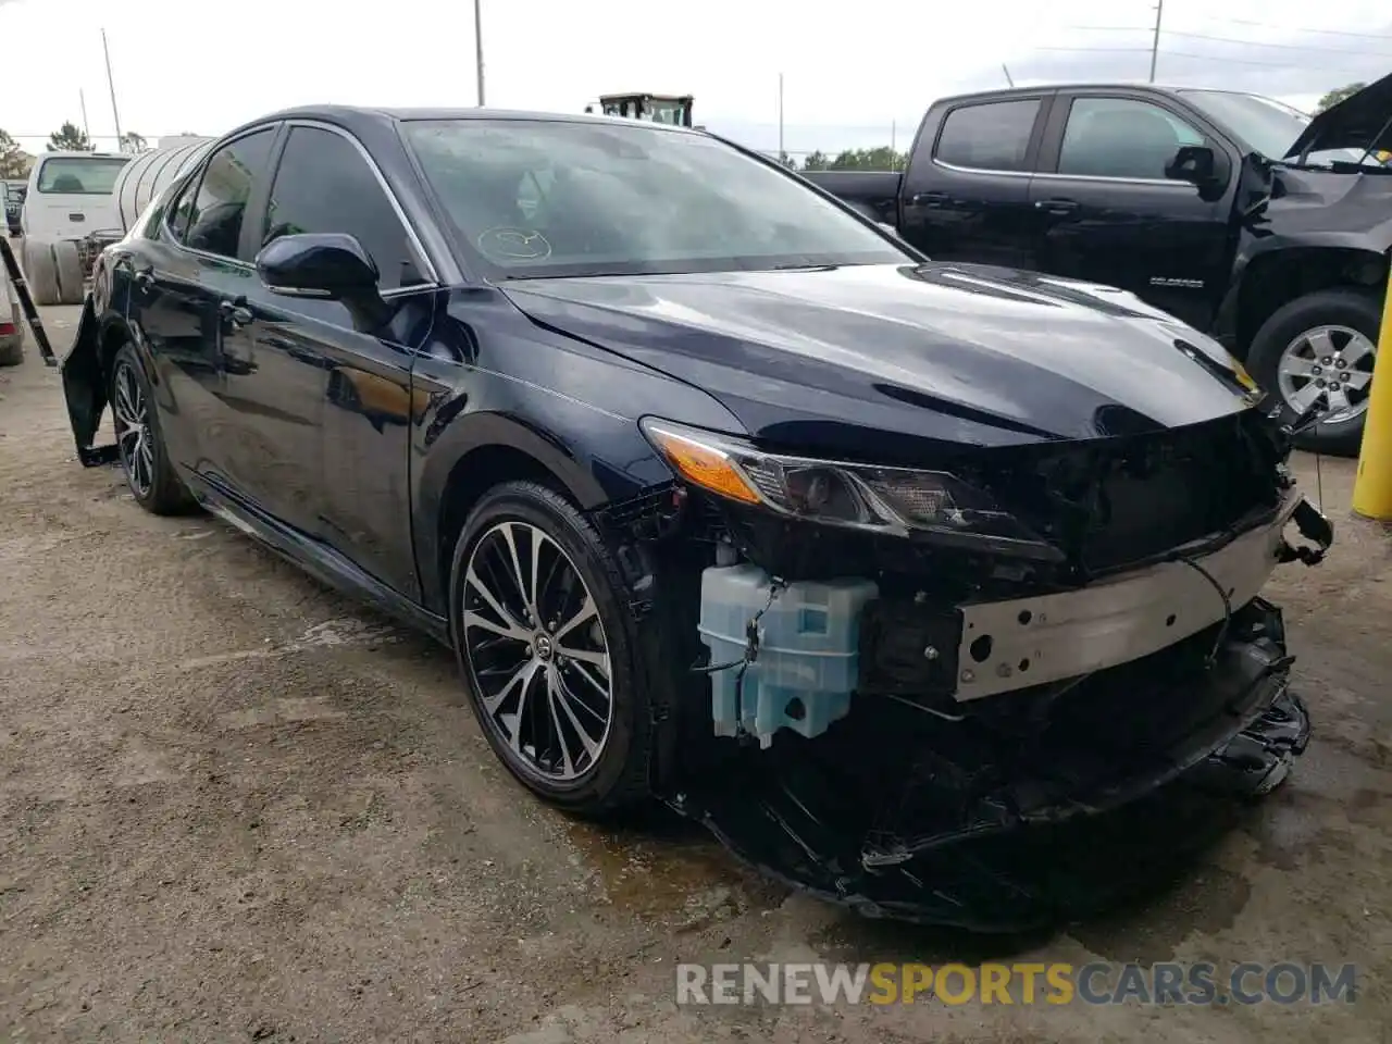
[[[451,628],[493,752],[528,789],[599,816],[649,796],[649,700],[618,562],[535,482],[494,487],[454,550]]]

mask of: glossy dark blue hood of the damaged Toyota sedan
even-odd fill
[[[973,264],[521,280],[533,322],[704,388],[770,445],[916,458],[1236,413],[1217,342],[1132,294]],[[661,413],[661,404],[636,413]],[[885,434],[902,438],[885,440]]]

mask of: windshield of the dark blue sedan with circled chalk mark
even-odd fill
[[[404,124],[470,252],[507,278],[901,264],[780,168],[651,124]]]

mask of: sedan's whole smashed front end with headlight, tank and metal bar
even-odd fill
[[[643,427],[678,482],[607,521],[660,564],[654,633],[686,636],[654,644],[692,664],[667,796],[774,877],[871,916],[1050,923],[1306,748],[1260,592],[1332,529],[1257,409],[933,470]]]

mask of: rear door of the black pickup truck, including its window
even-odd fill
[[[962,100],[920,134],[905,173],[899,231],[934,260],[1030,267],[1037,219],[1030,171],[1051,95]]]

